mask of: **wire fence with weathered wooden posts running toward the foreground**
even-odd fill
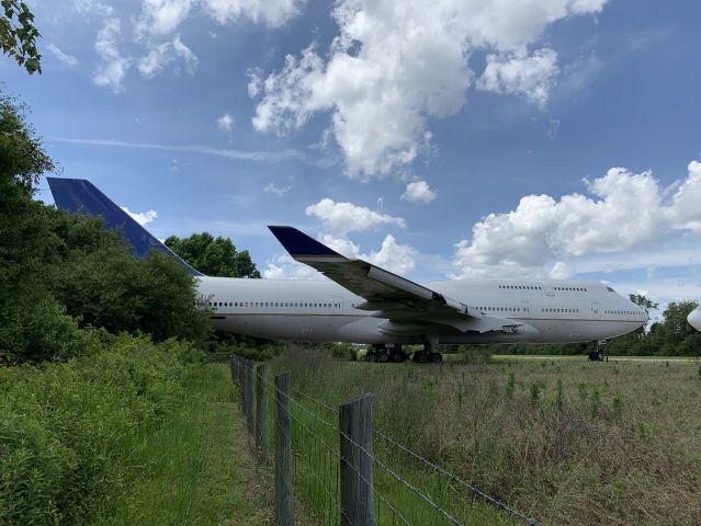
[[[264,364],[237,355],[231,355],[230,367],[258,461],[268,462],[274,450],[275,525],[301,524],[295,502],[307,522],[330,526],[461,526],[464,517],[474,522],[480,514],[482,523],[491,522],[479,502],[494,506],[500,523],[538,525],[373,430],[370,395],[335,409],[295,389],[290,373],[270,382]]]

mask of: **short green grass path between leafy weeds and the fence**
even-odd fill
[[[135,447],[133,479],[95,524],[271,524],[270,477],[256,470],[235,396],[228,365],[192,375],[179,411]]]

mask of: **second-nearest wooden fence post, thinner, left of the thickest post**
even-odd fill
[[[290,371],[275,376],[275,526],[292,526]]]

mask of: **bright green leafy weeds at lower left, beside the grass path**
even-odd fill
[[[80,331],[82,332],[82,331]],[[190,344],[93,333],[90,357],[0,369],[0,524],[90,522],[179,403]]]

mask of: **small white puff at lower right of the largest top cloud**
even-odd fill
[[[477,89],[496,93],[525,95],[533,104],[545,105],[557,73],[557,54],[543,48],[529,56],[525,48],[501,55],[488,55]]]

